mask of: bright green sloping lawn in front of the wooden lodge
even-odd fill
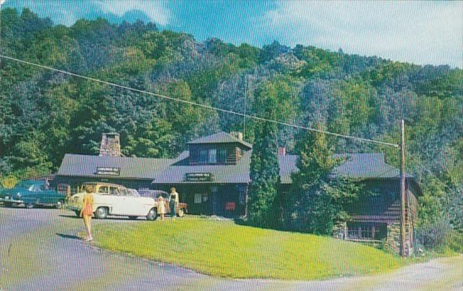
[[[95,227],[96,245],[229,278],[310,280],[385,272],[406,261],[373,247],[310,234],[190,217]]]

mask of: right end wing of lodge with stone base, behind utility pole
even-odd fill
[[[360,179],[370,194],[349,209],[350,218],[337,224],[335,236],[372,245],[383,244],[394,252],[400,250],[401,196],[400,172],[385,163],[382,154],[352,154],[335,168],[335,176]],[[421,188],[416,179],[406,175],[405,249],[413,252],[414,226]]]

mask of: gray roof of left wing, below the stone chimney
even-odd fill
[[[74,177],[106,177],[95,175],[98,167],[120,168],[120,175],[127,179],[152,179],[173,163],[173,159],[152,159],[140,157],[110,157],[90,155],[65,155],[56,175]]]

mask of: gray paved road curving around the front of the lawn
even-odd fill
[[[81,220],[69,211],[0,206],[0,290],[463,290],[463,256],[381,276],[308,282],[227,280],[103,252],[76,237],[82,230]]]

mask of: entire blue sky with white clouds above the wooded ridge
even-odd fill
[[[273,40],[294,47],[378,55],[414,64],[463,68],[463,1],[128,1],[0,0],[71,26],[104,17],[112,23],[151,21],[203,41],[255,46]]]

